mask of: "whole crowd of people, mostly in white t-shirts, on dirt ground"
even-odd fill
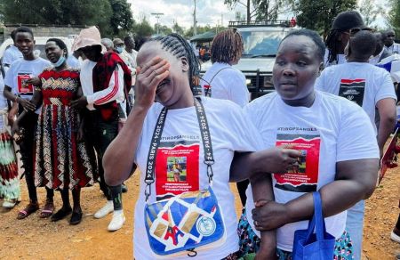
[[[332,258],[361,259],[364,199],[396,124],[396,85],[376,66],[398,53],[394,38],[355,11],[332,21],[325,43],[293,29],[276,53],[276,92],[250,102],[232,67],[243,39],[230,28],[214,38],[203,77],[200,54],[178,34],[136,52],[133,37],[84,28],[72,54],[49,39],[47,61],[33,52],[32,30],[17,28],[0,76],[3,207],[21,199],[15,141],[29,196],[18,219],[40,208],[36,187],[45,187],[40,217],[80,223],[80,191],[99,182],[107,201],[94,217],[113,213],[108,230],[116,231],[125,222],[124,181],[139,168],[136,259],[292,259],[315,192],[335,238]],[[239,222],[229,182],[244,206]],[[62,199],[55,213],[54,191]],[[400,242],[400,215],[391,237]]]

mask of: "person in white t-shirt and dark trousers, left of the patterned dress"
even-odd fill
[[[19,103],[19,113],[22,113],[23,110],[28,111],[25,118],[19,122],[20,128],[23,129],[21,131],[23,134],[20,137],[20,154],[30,199],[28,206],[18,213],[17,218],[22,219],[34,213],[39,208],[34,181],[33,146],[35,142],[35,128],[40,110],[36,110],[35,105],[30,102],[35,88],[29,79],[38,76],[46,67],[51,66],[51,63],[35,56],[35,39],[30,28],[16,28],[15,42],[23,55],[23,59],[12,62],[10,69],[7,71],[4,78],[4,97],[11,102]],[[42,209],[41,217],[52,215],[52,211],[54,210],[52,202],[53,191],[47,187],[46,191],[47,200],[44,209]]]

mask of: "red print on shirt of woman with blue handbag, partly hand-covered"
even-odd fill
[[[299,127],[280,127],[279,129],[299,129]],[[285,174],[274,174],[275,187],[284,191],[312,192],[318,183],[319,153],[321,138],[316,128],[300,128],[309,134],[277,134],[276,146],[292,145],[291,149],[300,150],[303,155]],[[286,133],[289,131],[285,131]]]

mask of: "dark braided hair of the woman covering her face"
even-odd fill
[[[193,52],[193,47],[188,44],[188,41],[179,34],[172,33],[164,37],[155,37],[149,42],[158,42],[163,46],[163,50],[172,53],[177,59],[185,57],[188,59],[189,71],[188,80],[192,91],[198,85],[198,76],[200,73],[200,62],[196,54]]]

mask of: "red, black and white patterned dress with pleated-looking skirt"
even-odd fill
[[[91,186],[94,151],[76,141],[78,113],[69,107],[80,87],[79,70],[44,69],[39,78],[43,107],[36,129],[35,184],[54,190]]]

